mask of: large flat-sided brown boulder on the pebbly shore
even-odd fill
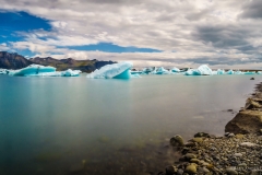
[[[241,110],[226,125],[226,132],[257,133],[262,128],[262,112]]]

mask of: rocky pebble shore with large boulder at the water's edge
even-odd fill
[[[172,137],[175,162],[158,175],[261,175],[262,83],[225,131],[224,137],[198,132],[186,143]]]

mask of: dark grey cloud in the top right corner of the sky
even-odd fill
[[[243,4],[243,12],[240,18],[243,19],[262,19],[262,1],[252,0]]]

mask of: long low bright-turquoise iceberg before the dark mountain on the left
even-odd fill
[[[47,73],[47,72],[55,72],[56,68],[53,67],[44,67],[40,65],[31,65],[26,68],[19,69],[19,70],[10,70],[10,75],[35,75],[40,73]]]

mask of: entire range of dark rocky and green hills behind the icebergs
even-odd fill
[[[43,65],[43,66],[52,66],[56,67],[58,71],[73,69],[81,70],[82,72],[92,72],[95,69],[99,69],[106,65],[116,63],[114,61],[98,61],[94,60],[74,60],[72,58],[68,59],[55,59],[51,57],[46,58],[31,58],[26,59],[21,55],[15,52],[0,51],[0,68],[3,69],[21,69],[25,68],[32,63]]]

